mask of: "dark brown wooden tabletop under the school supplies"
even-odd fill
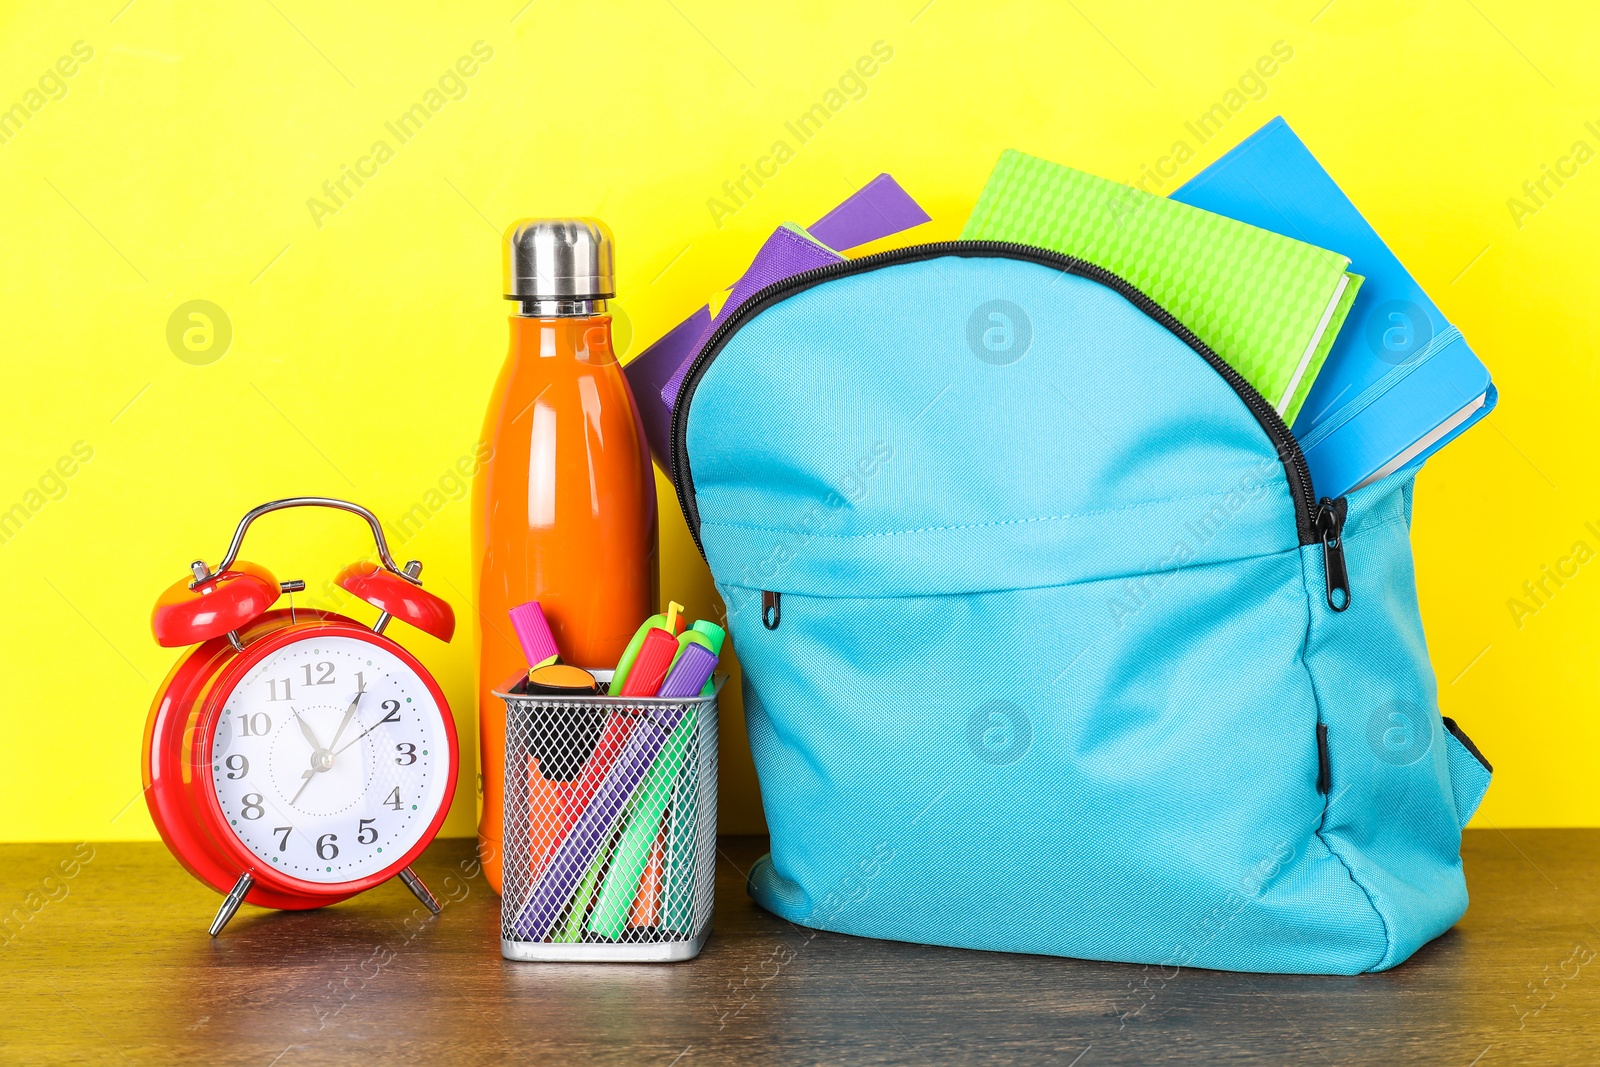
[[[757,910],[725,838],[693,963],[499,958],[467,841],[323,912],[218,897],[160,845],[0,846],[0,1062],[1600,1064],[1600,830],[1475,830],[1472,909],[1387,974],[1280,977],[814,934]],[[69,864],[72,865],[72,864]]]

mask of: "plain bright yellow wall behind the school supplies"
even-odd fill
[[[1574,141],[1600,149],[1584,126],[1600,130],[1589,5],[6,6],[0,107],[75,42],[93,58],[0,144],[0,509],[43,502],[0,544],[0,838],[154,837],[138,753],[176,651],[154,645],[150,605],[189,560],[214,563],[254,504],[331,494],[394,522],[438,502],[402,560],[424,560],[429,589],[467,617],[467,504],[446,475],[474,450],[506,350],[512,219],[610,222],[637,354],[776,224],[813,221],[878,171],[934,216],[915,238],[942,238],[1005,147],[1126,181],[1186,139],[1197,157],[1170,190],[1275,114],[1502,394],[1416,496],[1440,702],[1498,768],[1478,824],[1600,822],[1600,563],[1550,584],[1520,625],[1507,608],[1576,541],[1600,549],[1600,162],[1520,226],[1507,206]],[[467,94],[395,144],[384,123],[480,40],[493,59]],[[866,94],[798,144],[784,123],[880,40],[893,59]],[[1184,123],[1280,40],[1293,59],[1264,98],[1198,144]],[[307,198],[379,138],[395,157],[318,227]],[[778,139],[794,158],[718,226],[707,200]],[[190,299],[232,322],[210,365],[166,342]],[[29,498],[77,442],[93,459],[64,494],[46,478],[59,499]],[[659,486],[664,590],[709,614],[707,573]],[[317,589],[368,550],[346,515],[291,514],[261,523],[245,557]],[[469,637],[390,633],[437,673],[475,752]],[[738,699],[725,710],[723,827],[758,829]],[[472,827],[470,782],[467,758],[448,833]]]

